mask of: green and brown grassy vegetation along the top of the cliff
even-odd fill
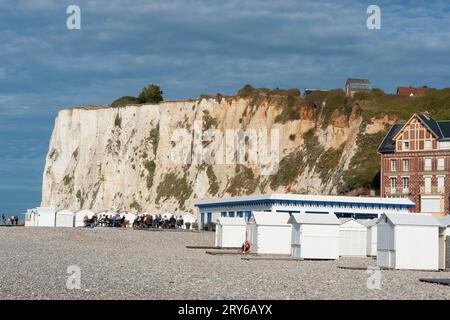
[[[315,91],[303,97],[295,88],[267,89],[246,85],[236,93],[236,97],[249,99],[250,106],[260,106],[263,103],[279,106],[281,112],[275,119],[279,123],[300,119],[302,108],[315,110],[313,114],[323,127],[337,116],[348,118],[355,107],[365,121],[385,115],[397,120],[407,120],[415,112],[423,111],[428,111],[437,120],[450,119],[450,88],[430,89],[417,97],[387,94],[375,88],[370,92],[356,93],[350,98],[341,89]]]

